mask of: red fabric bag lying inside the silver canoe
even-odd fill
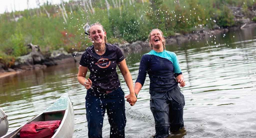
[[[54,130],[61,124],[60,120],[56,121],[39,121],[30,122],[22,127],[20,131],[21,138],[51,138]]]

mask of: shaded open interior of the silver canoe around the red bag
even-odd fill
[[[64,114],[66,110],[58,110],[58,111],[53,111],[53,112],[47,112],[47,113],[42,113],[41,115],[37,116],[33,120],[29,121],[27,124],[30,124],[30,122],[35,122],[35,121],[54,121],[54,120],[63,120]],[[4,138],[9,138],[13,136],[17,131],[11,132],[8,136]],[[20,138],[20,136],[15,135],[13,138]]]

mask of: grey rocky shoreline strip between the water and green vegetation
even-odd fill
[[[229,7],[234,15],[234,21],[236,25],[230,28],[220,28],[215,26],[214,29],[200,28],[193,33],[179,34],[176,33],[175,36],[165,37],[166,44],[182,44],[187,41],[203,40],[208,39],[210,36],[215,36],[218,34],[226,33],[229,30],[238,30],[248,27],[256,27],[256,23],[250,18],[246,18],[242,14],[242,8],[239,7]],[[256,17],[256,10],[251,10],[250,14]],[[148,41],[135,41],[133,43],[116,44],[118,45],[124,53],[140,51],[144,48],[149,48]],[[65,63],[76,63],[79,62],[80,57],[83,52],[73,52],[68,53],[64,48],[55,50],[52,53],[42,54],[39,46],[28,44],[28,48],[31,48],[31,52],[28,55],[20,56],[16,59],[14,66],[8,68],[0,63],[0,77],[6,76],[4,74],[15,74],[10,72],[22,72],[26,70],[37,70],[43,69],[48,66],[65,64]],[[8,75],[7,75],[8,76]]]

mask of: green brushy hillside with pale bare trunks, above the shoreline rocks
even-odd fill
[[[88,2],[88,1],[87,1]],[[106,3],[108,2],[108,4]],[[85,6],[87,5],[87,6]],[[99,21],[106,29],[108,42],[146,40],[153,28],[165,36],[189,33],[215,25],[229,27],[233,21],[228,6],[248,9],[254,0],[95,0],[69,1],[60,5],[44,3],[37,9],[16,11],[0,16],[0,63],[11,67],[15,58],[26,55],[26,44],[40,46],[43,53],[58,48],[68,52],[84,51],[92,43],[82,26]],[[49,14],[49,15],[48,15]],[[15,17],[19,17],[15,21]],[[254,18],[255,20],[255,18]]]

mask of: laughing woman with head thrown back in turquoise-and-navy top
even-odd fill
[[[169,135],[169,130],[177,131],[184,126],[185,101],[178,83],[184,87],[185,81],[176,54],[165,50],[162,31],[153,29],[148,39],[152,50],[143,55],[140,60],[135,93],[139,93],[148,73],[150,109],[155,119],[156,129],[154,138],[165,138]]]

